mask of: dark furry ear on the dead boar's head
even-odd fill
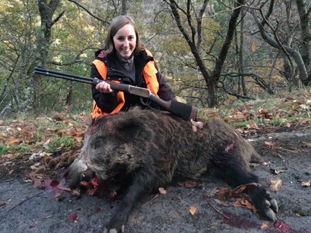
[[[122,141],[132,141],[139,136],[141,127],[136,119],[126,119],[116,126],[115,135]]]

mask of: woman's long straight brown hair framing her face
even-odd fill
[[[111,54],[114,51],[115,47],[113,44],[113,37],[114,35],[116,35],[119,29],[125,24],[131,24],[136,34],[136,47],[134,50],[134,54],[137,55],[141,50],[145,48],[144,44],[141,43],[136,24],[134,20],[132,19],[132,17],[128,15],[120,15],[120,16],[115,17],[109,26],[108,34],[107,34],[106,41],[105,41],[105,46],[103,47],[103,50],[105,50],[107,54]]]

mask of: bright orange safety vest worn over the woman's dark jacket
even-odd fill
[[[145,49],[145,51],[147,52],[147,54],[149,56],[152,56],[150,51],[148,51],[147,49]],[[102,61],[99,61],[99,60],[95,60],[93,62],[93,64],[95,65],[97,71],[99,72],[99,74],[103,78],[103,80],[106,80],[107,66],[105,65],[105,63],[103,63]],[[157,93],[159,91],[159,82],[158,82],[157,76],[155,75],[157,73],[158,73],[158,70],[155,69],[153,61],[148,62],[143,69],[143,76],[144,76],[146,83],[147,83],[147,89],[149,89],[154,95],[159,97],[157,95]],[[115,81],[115,82],[119,83],[119,81]],[[117,93],[117,103],[118,104],[117,104],[116,108],[113,109],[113,111],[111,113],[106,113],[106,112],[101,111],[101,109],[97,106],[96,101],[93,100],[92,118],[97,118],[100,115],[112,114],[112,113],[116,113],[116,112],[120,111],[121,108],[123,107],[124,103],[125,103],[123,92],[119,91]]]

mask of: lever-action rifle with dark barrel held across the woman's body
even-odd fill
[[[43,75],[51,76],[51,77],[56,77],[56,78],[77,81],[77,82],[89,83],[93,85],[96,85],[97,83],[103,81],[100,79],[93,79],[93,78],[88,78],[88,77],[84,77],[80,75],[74,75],[74,74],[63,73],[63,72],[58,72],[54,70],[48,70],[43,67],[35,67],[35,73],[43,74]],[[105,82],[108,82],[110,84],[111,89],[113,90],[127,92],[133,95],[147,98],[151,102],[157,104],[163,109],[173,113],[176,116],[179,116],[180,118],[186,121],[189,121],[190,119],[195,120],[197,116],[198,108],[195,106],[191,106],[191,105],[180,103],[180,102],[173,101],[173,100],[169,100],[169,101],[162,100],[159,97],[152,94],[151,91],[146,88],[139,88],[137,86],[123,84],[123,83],[116,83],[116,82],[111,82],[107,80],[105,80]]]

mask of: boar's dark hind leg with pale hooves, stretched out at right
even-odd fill
[[[258,178],[251,173],[248,164],[236,150],[232,150],[230,153],[218,154],[213,163],[216,166],[217,174],[232,189],[251,183],[258,183]],[[271,194],[262,187],[250,186],[246,190],[258,212],[275,221],[275,213],[278,212],[278,206]]]

